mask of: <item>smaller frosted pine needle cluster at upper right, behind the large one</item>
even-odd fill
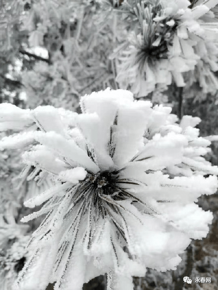
[[[126,48],[120,49],[116,77],[120,87],[130,84],[133,93],[146,96],[172,82],[182,87],[187,78],[189,85],[198,82],[203,92],[215,93],[218,21],[209,10],[218,0],[129,2],[138,25]]]

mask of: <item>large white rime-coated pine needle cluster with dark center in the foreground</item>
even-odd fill
[[[3,149],[31,141],[24,162],[54,181],[25,202],[44,205],[23,222],[47,215],[15,289],[45,290],[55,282],[55,290],[82,290],[108,273],[109,290],[132,290],[132,276],[144,276],[146,267],[175,269],[190,238],[207,235],[213,215],[194,202],[216,191],[217,177],[166,174],[182,163],[190,142],[170,108],[107,89],[82,97],[81,109],[64,119],[60,110],[38,107],[31,115],[41,130],[0,142]]]

